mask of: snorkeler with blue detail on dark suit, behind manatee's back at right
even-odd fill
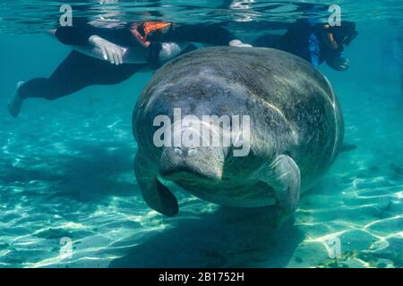
[[[274,47],[298,55],[318,67],[326,62],[337,71],[347,71],[349,61],[343,56],[344,45],[356,38],[356,24],[342,21],[341,26],[300,20],[291,24],[283,36],[265,35],[253,46]]]

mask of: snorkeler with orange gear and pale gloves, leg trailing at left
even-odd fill
[[[24,99],[42,97],[54,100],[90,85],[117,84],[143,68],[155,70],[163,61],[196,49],[193,44],[181,46],[176,43],[228,45],[235,39],[227,29],[218,25],[180,25],[150,21],[132,23],[119,29],[96,28],[83,24],[60,27],[54,33],[60,42],[75,46],[75,50],[59,64],[49,78],[19,83],[8,105],[13,117],[20,113]],[[166,42],[171,43],[165,45]],[[236,46],[242,45],[237,43]],[[132,47],[137,48],[135,53],[139,54],[140,59],[136,63],[125,62],[124,55]],[[98,50],[100,56],[93,55],[93,50]]]

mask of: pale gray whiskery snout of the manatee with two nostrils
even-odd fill
[[[219,181],[223,165],[224,152],[219,147],[165,147],[159,173],[171,181]]]

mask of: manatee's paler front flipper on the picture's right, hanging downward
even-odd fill
[[[290,214],[294,213],[299,203],[301,173],[296,162],[290,156],[278,156],[262,172],[261,180],[274,189],[279,219],[285,221]]]

